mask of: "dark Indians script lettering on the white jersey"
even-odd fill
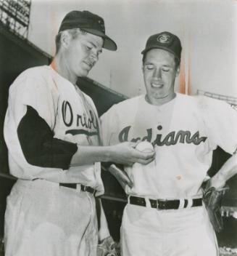
[[[119,134],[120,142],[128,141],[128,134],[130,131],[130,126],[125,127]],[[157,129],[161,130],[162,126],[159,125]],[[144,141],[147,140],[151,142],[152,137],[152,129],[146,129],[147,135],[143,138],[136,137],[133,138],[131,141],[136,142],[138,140]],[[165,137],[162,137],[162,134],[157,134],[156,139],[152,142],[153,145],[175,145],[177,143],[194,143],[194,145],[199,145],[201,142],[205,142],[207,137],[200,137],[199,132],[195,132],[194,135],[191,135],[190,131],[178,131],[178,132],[169,132]]]

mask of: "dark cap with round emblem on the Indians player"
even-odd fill
[[[144,55],[150,49],[165,49],[175,55],[178,60],[180,60],[182,51],[181,42],[178,36],[166,31],[150,36],[146,41],[146,48],[141,54]]]

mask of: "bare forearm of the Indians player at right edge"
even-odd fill
[[[228,159],[223,167],[211,178],[211,186],[215,188],[223,188],[226,181],[237,174],[237,153]]]

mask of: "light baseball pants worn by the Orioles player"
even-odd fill
[[[7,198],[6,256],[96,256],[91,193],[46,180],[17,180]]]

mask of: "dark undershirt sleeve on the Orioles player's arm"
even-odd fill
[[[29,105],[17,127],[17,135],[26,161],[38,167],[68,169],[78,150],[76,143],[54,138],[46,121]]]

